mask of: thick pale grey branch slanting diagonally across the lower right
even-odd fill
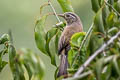
[[[108,47],[110,44],[114,43],[114,40],[116,40],[118,37],[120,37],[120,31],[113,36],[108,42],[104,43],[92,56],[88,58],[88,60],[78,69],[78,71],[75,73],[74,78],[78,77],[79,74],[81,74],[84,69],[90,64],[90,62],[95,59],[95,57],[100,54],[106,47]]]

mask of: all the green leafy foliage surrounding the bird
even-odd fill
[[[70,0],[57,0],[63,12],[73,12]],[[79,67],[93,55],[96,50],[110,40],[120,31],[120,0],[91,0],[92,10],[95,12],[92,22],[91,32],[79,32],[71,37],[71,49],[68,53],[69,68],[68,73],[73,76]],[[46,4],[45,4],[46,5]],[[47,6],[50,4],[48,2]],[[40,8],[40,14],[43,10]],[[52,6],[52,9],[53,6]],[[55,10],[53,10],[55,11]],[[35,42],[41,53],[50,57],[51,64],[56,67],[55,79],[58,71],[56,55],[58,40],[61,29],[65,24],[57,23],[55,27],[45,31],[45,22],[51,14],[44,14],[36,21],[34,34]],[[56,15],[57,17],[57,15]],[[58,19],[58,18],[57,18]],[[85,38],[87,36],[87,38]],[[14,80],[26,80],[26,74],[29,80],[44,80],[45,66],[39,54],[30,49],[21,49],[16,51],[11,42],[11,36],[4,34],[0,37],[0,72],[9,63]],[[81,45],[82,44],[82,45]],[[3,60],[5,54],[9,54],[9,61]],[[66,80],[119,80],[120,79],[120,37],[117,38],[100,55],[98,55],[84,72],[77,78],[70,77]]]

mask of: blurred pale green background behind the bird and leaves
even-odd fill
[[[50,59],[41,54],[34,40],[34,25],[40,15],[40,6],[47,0],[0,0],[0,36],[12,30],[16,49],[30,48],[40,54],[46,66],[44,80],[54,80],[55,67],[50,64]],[[57,0],[51,0],[57,13],[62,10]],[[77,13],[84,26],[84,31],[90,27],[94,13],[92,12],[91,0],[71,0],[75,13]],[[45,7],[43,13],[51,12],[50,7]],[[46,30],[57,23],[55,16],[48,17]],[[4,57],[8,60],[8,55]],[[8,65],[0,73],[0,80],[12,80],[12,74]]]

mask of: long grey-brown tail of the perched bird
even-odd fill
[[[57,77],[64,76],[67,77],[67,67],[68,67],[68,60],[67,55],[61,54],[60,66]]]

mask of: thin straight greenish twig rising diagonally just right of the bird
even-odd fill
[[[82,49],[82,47],[84,46],[84,44],[85,44],[88,36],[89,36],[90,33],[92,32],[92,30],[93,30],[93,24],[94,24],[94,23],[92,23],[92,25],[90,26],[90,28],[89,28],[89,30],[88,30],[85,38],[83,39],[83,41],[82,41],[82,43],[81,43],[81,45],[80,45],[80,48],[79,48],[78,52],[81,51],[81,49]],[[74,59],[74,61],[73,61],[73,65],[74,65],[74,63],[75,63],[75,61],[77,60],[77,58],[78,58],[79,55],[80,55],[79,53],[75,55],[75,59]],[[73,66],[73,65],[72,65],[72,66]]]

